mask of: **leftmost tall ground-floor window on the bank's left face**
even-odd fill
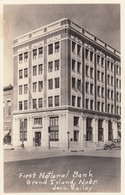
[[[27,140],[27,119],[20,120],[20,141]]]

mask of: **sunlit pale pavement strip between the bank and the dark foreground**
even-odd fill
[[[84,150],[51,148],[14,148],[4,150],[4,162],[22,161],[31,159],[53,158],[59,156],[94,156],[120,158],[121,150],[103,150],[102,148],[85,148]]]

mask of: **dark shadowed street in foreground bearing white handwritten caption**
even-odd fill
[[[120,192],[120,161],[120,158],[72,153],[5,162],[4,191]]]

